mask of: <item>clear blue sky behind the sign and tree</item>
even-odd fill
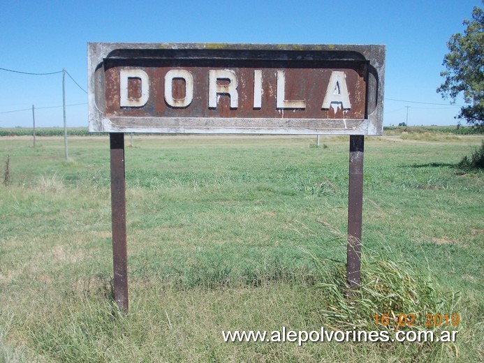
[[[68,126],[87,126],[87,42],[386,45],[384,125],[452,125],[459,107],[436,93],[452,34],[478,0],[8,1],[0,68],[65,68]],[[82,88],[82,89],[81,89]],[[402,101],[395,101],[402,100]],[[413,101],[413,102],[409,102]],[[420,102],[420,103],[416,103]],[[457,104],[462,104],[462,99]],[[435,103],[432,104],[432,103]],[[61,126],[62,75],[0,71],[0,127]],[[21,111],[20,111],[21,110]],[[14,111],[14,112],[13,112]]]

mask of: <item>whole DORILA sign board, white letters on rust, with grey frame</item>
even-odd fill
[[[89,43],[89,131],[381,135],[383,45]]]

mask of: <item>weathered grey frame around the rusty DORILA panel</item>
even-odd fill
[[[361,119],[230,117],[125,117],[105,114],[105,67],[133,61],[276,61],[366,63],[365,116]],[[131,63],[132,64],[132,63]],[[383,133],[384,45],[258,45],[89,43],[89,131],[115,133],[254,133],[381,135]]]

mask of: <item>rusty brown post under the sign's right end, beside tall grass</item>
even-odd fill
[[[350,136],[348,187],[348,245],[346,281],[350,289],[361,284],[361,225],[363,207],[363,152],[365,136]]]

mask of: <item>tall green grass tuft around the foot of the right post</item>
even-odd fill
[[[430,269],[411,265],[403,258],[397,261],[395,254],[375,251],[362,253],[361,286],[348,298],[346,266],[314,253],[311,258],[320,279],[314,288],[328,291],[321,313],[332,327],[374,330],[375,314],[388,314],[396,323],[399,314],[414,313],[420,322],[427,313],[455,311],[460,301],[458,294],[444,292]]]

